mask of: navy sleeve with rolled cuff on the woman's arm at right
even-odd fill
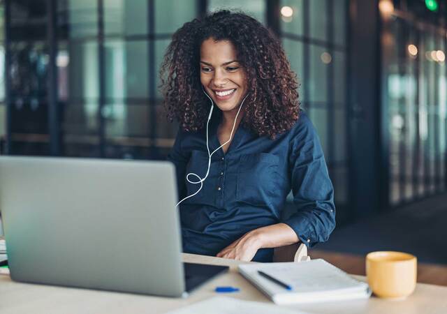
[[[327,241],[335,228],[334,188],[312,122],[300,117],[288,161],[295,214],[284,221],[309,247]]]

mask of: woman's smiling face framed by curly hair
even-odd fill
[[[247,94],[247,75],[229,40],[204,40],[200,46],[200,82],[223,112],[239,109]]]

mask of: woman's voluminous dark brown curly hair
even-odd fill
[[[253,17],[229,10],[194,19],[174,33],[160,70],[168,119],[177,119],[186,132],[206,124],[210,100],[202,91],[199,63],[200,45],[208,38],[233,43],[247,75],[242,125],[270,138],[290,130],[299,117],[299,84],[281,43]]]

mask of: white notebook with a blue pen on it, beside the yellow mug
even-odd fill
[[[265,274],[292,287],[281,285],[258,274]],[[309,303],[368,298],[367,283],[357,281],[325,260],[241,264],[239,272],[276,304]]]

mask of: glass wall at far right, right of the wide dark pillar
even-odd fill
[[[446,190],[446,31],[399,11],[383,17],[389,202]]]

